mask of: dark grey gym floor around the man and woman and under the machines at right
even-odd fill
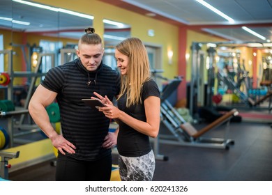
[[[233,122],[229,127],[229,139],[235,142],[229,150],[160,144],[159,153],[168,160],[156,160],[153,180],[271,181],[271,123]],[[205,137],[222,137],[224,132],[222,125],[207,132]],[[53,161],[11,172],[9,180],[54,181]],[[116,154],[113,162],[117,164]]]

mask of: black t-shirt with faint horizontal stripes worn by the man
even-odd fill
[[[87,85],[88,81],[91,84]],[[103,63],[96,72],[89,72],[76,59],[52,68],[42,85],[58,93],[61,132],[77,147],[75,154],[66,155],[89,161],[110,155],[111,150],[102,147],[109,130],[109,118],[87,106],[82,99],[95,96],[93,92],[96,91],[112,100],[120,92],[119,73]]]

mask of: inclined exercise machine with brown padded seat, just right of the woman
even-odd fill
[[[158,138],[159,143],[178,146],[229,149],[229,146],[234,144],[232,139],[227,139],[229,134],[229,123],[232,116],[238,115],[238,111],[236,109],[232,109],[217,120],[213,121],[213,123],[202,128],[202,130],[196,130],[195,127],[190,123],[187,123],[186,120],[182,118],[182,116],[167,100],[167,96],[176,90],[180,82],[181,80],[173,80],[165,86],[165,91],[163,92],[160,105],[161,123],[167,127],[167,130],[169,130],[171,134],[160,133]],[[203,137],[206,132],[222,124],[226,125],[224,138]]]

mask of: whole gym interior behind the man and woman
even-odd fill
[[[248,11],[242,1],[222,2],[209,1],[234,18]],[[113,69],[118,42],[137,37],[146,45],[161,91],[154,181],[271,181],[272,1],[254,2],[247,1],[256,8],[252,19],[233,24],[189,0],[169,12],[183,22],[155,0],[1,0],[0,180],[54,181],[56,148],[29,115],[29,100],[50,68],[77,58],[77,42],[93,26]],[[203,15],[194,24],[205,12],[214,20]],[[241,33],[248,28],[266,34]],[[47,113],[61,134],[58,104]],[[119,181],[116,148],[112,155],[111,180]]]

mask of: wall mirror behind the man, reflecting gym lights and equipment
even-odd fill
[[[46,138],[28,115],[31,95],[50,68],[77,58],[77,42],[93,26],[92,15],[26,3],[0,1],[0,123],[10,147]],[[130,26],[112,22],[103,20],[103,61],[116,68],[113,46],[130,37]]]

